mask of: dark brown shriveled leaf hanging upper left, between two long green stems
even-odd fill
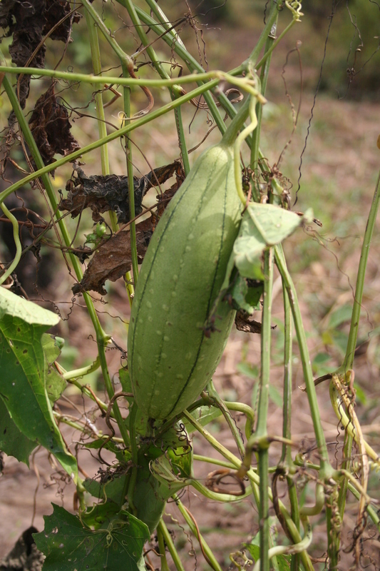
[[[68,111],[56,100],[54,86],[52,83],[38,98],[29,119],[31,132],[46,165],[54,162],[53,156],[56,153],[65,156],[80,148],[78,141],[70,132]]]

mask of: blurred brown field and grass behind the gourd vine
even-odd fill
[[[380,134],[380,75],[379,36],[380,6],[374,0],[305,2],[302,22],[293,26],[274,51],[267,88],[267,104],[262,123],[261,150],[272,168],[277,168],[291,195],[292,208],[305,211],[312,208],[314,216],[322,222],[322,228],[314,225],[298,231],[284,245],[289,268],[297,285],[299,301],[307,328],[312,365],[317,376],[329,373],[342,363],[349,328],[350,310],[353,301],[353,287],[359,262],[361,239],[366,227],[366,217],[374,193],[380,167],[380,151],[376,140]],[[265,0],[188,0],[160,2],[170,21],[177,22],[181,38],[188,50],[206,69],[228,71],[244,61],[250,54],[262,30],[267,2]],[[98,6],[99,9],[99,6]],[[186,14],[192,11],[194,19]],[[282,16],[282,15],[280,15]],[[139,43],[133,36],[133,28],[119,4],[103,4],[103,18],[115,39],[129,54],[138,50]],[[289,23],[287,14],[279,19],[280,29]],[[86,37],[84,19],[73,26],[73,42],[68,45],[62,69],[73,69],[91,73],[91,52]],[[3,40],[3,50],[10,40]],[[63,44],[48,40],[46,43],[46,67],[53,67],[61,58]],[[163,43],[156,43],[155,50],[168,69],[173,64],[173,54]],[[103,70],[117,65],[108,44],[101,38]],[[142,57],[139,76],[150,77],[153,72]],[[184,74],[187,71],[184,70]],[[118,69],[113,71],[115,75]],[[173,69],[178,74],[178,69]],[[31,113],[38,94],[48,87],[47,79],[32,82],[31,95],[26,104],[26,113]],[[84,146],[98,137],[96,120],[93,118],[94,102],[91,86],[68,86],[61,82],[59,94],[71,110],[72,132]],[[109,97],[111,99],[111,96]],[[9,113],[5,97],[1,99],[4,119]],[[155,91],[156,103],[169,101],[165,89]],[[90,102],[90,103],[88,103]],[[142,91],[133,92],[133,112],[145,106]],[[297,128],[294,133],[292,109],[297,111]],[[119,126],[118,113],[121,104],[116,101],[107,109],[110,131]],[[188,146],[197,145],[209,128],[207,111],[197,111],[191,106],[183,108],[188,133]],[[4,121],[5,125],[5,121]],[[113,125],[113,126],[112,126]],[[215,129],[207,141],[195,151],[195,156],[205,146],[220,138]],[[178,158],[178,141],[172,115],[163,116],[152,125],[138,130],[133,136],[136,151],[133,156],[135,173],[141,176],[150,167],[164,165]],[[286,147],[286,149],[285,149]],[[285,149],[285,150],[284,150]],[[193,156],[191,160],[193,161]],[[22,153],[14,149],[14,157],[23,164]],[[281,157],[281,160],[279,161]],[[86,156],[83,169],[86,174],[100,174],[98,152]],[[110,146],[111,172],[125,174],[125,152],[115,141]],[[19,174],[9,171],[8,178]],[[65,195],[65,185],[71,177],[71,166],[59,169],[54,179],[57,193]],[[5,188],[1,182],[1,190]],[[154,201],[156,191],[147,197]],[[20,196],[29,196],[24,189]],[[34,195],[43,213],[41,198]],[[46,215],[46,213],[45,213]],[[86,218],[87,216],[87,218]],[[86,234],[92,231],[91,217],[83,215],[81,229],[76,233],[76,246],[83,245]],[[68,220],[72,233],[76,232],[76,221]],[[87,225],[87,227],[86,227]],[[3,225],[4,226],[4,225]],[[5,236],[5,235],[4,235]],[[0,246],[1,259],[11,258],[11,245],[6,247],[5,238]],[[66,339],[61,363],[66,369],[83,366],[94,358],[96,348],[91,338],[91,325],[83,310],[80,298],[72,301],[71,285],[66,268],[61,268],[59,252],[42,246],[41,260],[31,255],[26,264],[24,285],[29,285],[31,299],[42,300],[46,307],[58,308],[63,318],[57,333]],[[51,256],[53,256],[53,261]],[[379,225],[369,254],[366,288],[359,343],[356,349],[356,413],[361,419],[366,438],[379,450],[380,401],[380,238]],[[59,262],[60,265],[56,261]],[[29,266],[28,266],[29,264]],[[43,264],[45,264],[43,266]],[[29,272],[29,273],[28,273]],[[66,276],[64,278],[63,276]],[[98,310],[103,326],[112,331],[118,345],[126,349],[125,319],[128,319],[128,299],[122,280],[106,285],[106,303],[101,296]],[[257,320],[260,320],[258,312]],[[269,428],[278,430],[279,406],[282,403],[282,346],[283,346],[282,295],[280,283],[274,283],[274,331],[273,385]],[[120,353],[108,352],[110,371],[117,375],[120,368]],[[255,407],[255,383],[260,363],[260,338],[241,332],[233,333],[225,357],[215,375],[215,385],[226,400],[242,400]],[[103,380],[98,372],[86,379],[93,388],[103,391]],[[115,380],[117,383],[117,380]],[[302,371],[294,348],[294,414],[293,435],[305,446],[312,445],[312,424],[308,414],[306,396],[298,385],[302,385]],[[327,385],[318,388],[324,429],[331,436],[332,454],[337,438],[337,418],[331,405]],[[75,390],[69,396],[75,400]],[[79,406],[83,406],[82,403]],[[240,419],[237,418],[237,423]],[[242,423],[241,423],[242,426]],[[221,440],[227,437],[222,421],[217,421],[212,430]],[[195,440],[197,445],[197,439]],[[89,455],[88,455],[89,457]],[[275,449],[274,449],[275,458]],[[41,530],[42,514],[51,512],[51,501],[60,502],[64,497],[63,485],[57,478],[51,480],[51,467],[43,455],[36,457],[34,472],[8,459],[8,478],[2,482],[0,505],[0,557],[14,545],[25,527],[31,522],[34,491],[41,482],[36,500],[34,525]],[[88,458],[86,470],[96,472],[98,464]],[[205,477],[201,473],[199,477]],[[379,476],[371,475],[370,487],[379,490]],[[22,490],[22,493],[20,493]],[[380,492],[375,492],[379,493]],[[70,492],[72,494],[72,492]],[[70,494],[67,509],[71,507]],[[312,498],[313,490],[304,492],[305,500]],[[241,541],[249,540],[255,532],[252,524],[255,514],[252,505],[232,507],[212,505],[205,510],[202,499],[189,494],[192,512],[203,517],[200,530],[207,542],[222,559],[225,553],[239,547]],[[311,500],[310,500],[311,501]],[[173,507],[174,510],[174,507]],[[242,513],[247,512],[247,517]],[[220,534],[224,535],[220,542]],[[316,556],[324,550],[323,534],[318,543],[318,531],[314,532]],[[222,545],[220,545],[222,544]],[[378,549],[379,545],[374,540]],[[189,556],[189,568],[193,560]],[[192,567],[191,567],[192,565]],[[229,565],[226,560],[224,565]],[[348,568],[348,567],[347,567]]]

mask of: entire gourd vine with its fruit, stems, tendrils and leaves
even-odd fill
[[[344,315],[342,309],[342,315],[333,314],[329,321],[329,330],[335,331],[342,320],[350,320],[349,333],[339,344],[342,365],[330,370],[324,353],[311,362],[297,293],[282,250],[282,242],[297,228],[313,223],[312,212],[291,211],[289,191],[284,188],[278,166],[270,166],[260,148],[271,56],[301,20],[301,4],[269,2],[257,44],[229,73],[205,71],[185,48],[177,27],[162,7],[155,0],[140,4],[144,9],[131,0],[118,0],[116,10],[114,5],[96,6],[82,0],[78,9],[71,9],[62,2],[61,13],[53,22],[47,20],[44,8],[38,14],[31,4],[20,8],[24,10],[22,17],[11,3],[1,7],[6,11],[1,22],[7,34],[13,34],[9,54],[0,53],[2,97],[4,107],[11,111],[3,146],[4,166],[14,166],[12,153],[22,141],[29,171],[0,193],[0,205],[13,228],[16,246],[14,259],[3,264],[1,276],[0,448],[28,463],[31,452],[42,446],[76,486],[75,513],[54,505],[53,514],[45,517],[45,529],[34,535],[38,549],[46,556],[43,571],[153,569],[153,547],[146,546],[154,543],[155,533],[158,565],[163,570],[170,565],[183,571],[183,552],[165,523],[168,500],[178,506],[207,565],[221,571],[199,525],[181,501],[181,492],[188,487],[207,500],[237,505],[237,510],[238,502],[252,499],[257,507],[258,532],[249,544],[237,545],[236,552],[226,554],[225,559],[230,560],[232,568],[253,566],[254,571],[269,571],[271,565],[279,570],[317,569],[312,555],[313,525],[322,516],[326,548],[322,562],[326,568],[338,569],[350,492],[357,502],[357,516],[349,550],[359,567],[361,537],[368,518],[380,530],[379,515],[368,489],[369,474],[379,469],[379,458],[366,443],[354,410],[353,370],[366,261],[379,206],[379,180],[364,235],[353,307],[344,306]],[[79,24],[81,14],[85,19]],[[138,39],[135,43],[133,36],[128,50],[108,27],[120,25],[115,23],[116,17],[123,22],[124,30],[132,25]],[[32,37],[38,19],[45,24],[41,27],[40,22],[36,45],[31,43],[29,51],[21,50],[20,55],[16,48],[22,47],[18,44],[21,24]],[[192,16],[186,19],[196,29]],[[48,39],[65,41],[69,51],[71,34],[75,36],[76,26],[82,25],[86,26],[86,31],[81,30],[82,40],[87,34],[91,47],[93,73],[78,73],[75,67],[61,71],[61,66],[53,63],[45,67],[43,54]],[[161,44],[156,47],[158,41]],[[104,56],[107,66],[102,63],[104,45],[108,46]],[[158,55],[158,45],[165,56]],[[138,46],[135,53],[133,46]],[[114,67],[118,67],[118,73]],[[112,71],[106,71],[109,68]],[[183,68],[189,73],[182,73]],[[47,78],[51,82],[43,94],[38,93],[33,105],[36,76],[41,82]],[[235,95],[239,91],[235,103],[227,97],[225,84],[233,86]],[[63,104],[63,96],[59,99],[56,95],[60,85],[72,90],[80,86],[78,94],[72,91],[71,103],[65,100]],[[91,101],[95,103],[98,125],[98,138],[94,136],[86,146],[76,141],[68,122],[68,108],[74,113],[81,89],[85,97],[93,90]],[[168,90],[170,101],[161,105],[157,101],[158,90],[162,89]],[[143,101],[141,94],[147,98],[147,106],[135,111]],[[205,103],[198,101],[200,96]],[[120,126],[115,126],[112,113],[108,115],[107,111],[115,101],[122,102]],[[187,103],[205,108],[220,131],[220,142],[210,145],[192,168],[184,128]],[[153,131],[155,121],[168,113],[174,114],[180,159],[163,167],[150,166],[148,174],[137,176],[138,169],[133,169],[134,161],[138,161],[136,133],[146,133],[145,127]],[[228,117],[232,121],[228,122]],[[111,173],[109,149],[118,148],[116,143],[121,144],[125,157],[126,175],[122,176]],[[101,175],[90,176],[86,173],[88,165],[81,167],[83,160],[91,160],[96,152],[101,157]],[[62,158],[54,158],[57,153]],[[53,173],[63,178],[69,164],[73,172],[66,184],[67,195],[58,201]],[[166,181],[174,175],[175,183],[164,190]],[[46,218],[49,216],[34,236],[34,246],[43,243],[61,251],[68,279],[75,276],[73,295],[83,298],[93,326],[96,358],[90,365],[82,363],[74,370],[60,365],[61,340],[48,333],[60,323],[59,315],[16,295],[20,292],[15,276],[25,248],[16,211],[8,208],[6,201],[29,183],[41,192]],[[158,200],[147,206],[145,197],[153,187],[159,189]],[[96,223],[91,233],[88,208]],[[74,225],[67,213],[76,219]],[[83,263],[88,259],[83,273]],[[269,398],[277,405],[280,400],[270,378],[275,267],[283,293],[284,372],[282,430],[273,434],[267,429]],[[121,276],[125,279],[123,307],[128,302],[131,306],[130,320],[125,308],[122,325],[124,338],[128,336],[128,351],[107,330],[89,293],[96,291],[105,296],[106,280],[115,281]],[[55,300],[55,308],[57,303]],[[252,313],[259,307],[262,323],[257,324],[252,321]],[[260,331],[261,335],[259,380],[250,400],[255,410],[246,403],[223,400],[212,383],[236,312],[240,328]],[[299,452],[292,438],[293,335],[302,360],[317,462]],[[115,384],[108,367],[107,348],[120,351],[120,385]],[[317,380],[313,367],[319,375]],[[104,400],[86,384],[88,375],[99,368],[106,387]],[[255,378],[255,368],[247,363],[241,368]],[[317,402],[316,385],[323,380],[329,380],[332,410],[344,428],[342,453],[339,458],[336,453],[334,459],[329,455]],[[55,403],[68,384],[96,403],[106,433],[90,421],[83,424],[81,419],[73,420],[56,409]],[[234,412],[245,417],[244,436],[235,424]],[[210,427],[218,417],[225,419],[237,454],[212,433]],[[81,435],[76,455],[63,438],[61,428],[65,424]],[[216,450],[217,459],[197,453],[192,443],[194,434]],[[269,450],[275,444],[280,445],[281,453],[276,463],[271,461],[269,465]],[[351,461],[354,446],[358,453]],[[98,477],[81,477],[78,450],[83,449],[98,453],[105,467]],[[212,463],[218,468],[202,482],[195,477],[195,463]],[[227,485],[231,481],[233,487]],[[314,505],[304,501],[310,482],[314,485]],[[286,490],[282,499],[280,485]]]

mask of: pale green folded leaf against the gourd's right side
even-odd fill
[[[310,213],[305,214],[307,220]],[[263,280],[261,256],[265,248],[281,243],[305,219],[274,204],[250,203],[234,244],[235,266],[245,278]]]

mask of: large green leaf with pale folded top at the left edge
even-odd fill
[[[76,460],[66,449],[46,391],[41,338],[58,321],[55,313],[0,288],[1,397],[21,433],[53,453],[76,480]]]

